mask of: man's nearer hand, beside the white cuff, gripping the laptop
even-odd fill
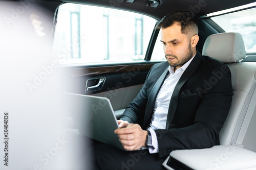
[[[145,147],[147,131],[141,129],[138,124],[129,124],[126,128],[116,129],[120,142],[125,150],[133,151]]]

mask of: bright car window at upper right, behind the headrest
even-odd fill
[[[256,52],[256,8],[211,17],[225,32],[242,35],[247,53]]]

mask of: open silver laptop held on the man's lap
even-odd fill
[[[74,93],[65,93],[65,97],[66,106],[81,135],[124,150],[114,133],[119,125],[108,98]]]

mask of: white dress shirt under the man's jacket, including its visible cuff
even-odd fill
[[[163,85],[161,86],[157,94],[157,98],[153,109],[153,115],[150,123],[150,128],[147,129],[150,130],[152,136],[153,147],[148,148],[151,154],[159,152],[157,136],[154,129],[165,129],[170,98],[173,95],[174,88],[178,83],[180,77],[182,76],[183,72],[186,70],[188,65],[191,63],[193,58],[187,61],[182,67],[178,68],[175,72],[174,67],[168,67],[169,74],[166,76]]]

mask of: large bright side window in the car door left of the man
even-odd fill
[[[144,60],[156,20],[78,4],[58,9],[53,56],[60,63]]]

